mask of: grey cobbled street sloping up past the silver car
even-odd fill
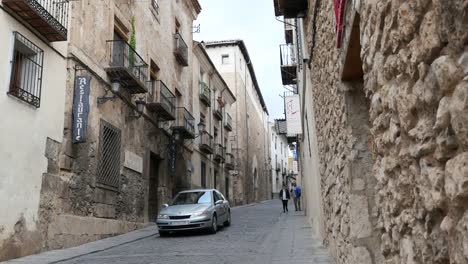
[[[331,264],[302,213],[281,213],[280,201],[232,209],[232,225],[217,234],[149,236],[60,264],[311,263]]]

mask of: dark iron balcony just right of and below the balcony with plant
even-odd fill
[[[175,95],[162,81],[148,82],[150,94],[146,108],[158,115],[159,120],[175,120]]]

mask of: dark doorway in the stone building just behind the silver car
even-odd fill
[[[149,160],[148,219],[150,222],[156,222],[159,213],[158,187],[161,159],[151,152]]]

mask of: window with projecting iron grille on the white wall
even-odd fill
[[[20,33],[14,32],[14,36],[8,94],[39,108],[44,52]]]

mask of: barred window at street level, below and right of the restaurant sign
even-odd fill
[[[120,130],[101,120],[97,183],[118,190],[120,182]]]

